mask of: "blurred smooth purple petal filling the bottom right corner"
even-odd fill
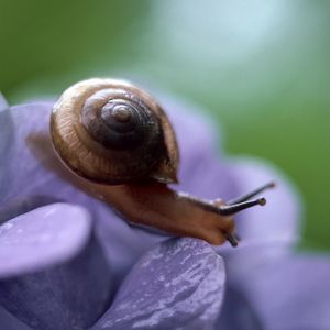
[[[268,261],[244,283],[266,329],[328,329],[330,258],[287,255]]]

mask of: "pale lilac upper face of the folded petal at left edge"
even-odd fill
[[[0,227],[0,278],[66,262],[90,238],[91,220],[84,209],[54,204],[21,215]]]

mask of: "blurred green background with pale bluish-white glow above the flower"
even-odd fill
[[[90,76],[143,77],[197,102],[227,151],[294,179],[302,246],[330,249],[330,1],[0,0],[0,45],[10,103]]]

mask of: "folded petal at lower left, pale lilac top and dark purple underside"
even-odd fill
[[[82,208],[54,204],[0,227],[0,302],[42,330],[87,328],[108,307],[111,273]]]

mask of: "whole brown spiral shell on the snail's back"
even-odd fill
[[[96,78],[69,87],[53,108],[51,133],[62,161],[85,178],[176,182],[172,125],[151,96],[127,81]]]

